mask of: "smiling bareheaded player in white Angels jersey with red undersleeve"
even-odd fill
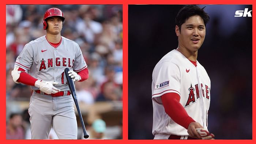
[[[157,63],[152,75],[154,139],[212,139],[207,129],[211,81],[196,60],[210,17],[197,5],[176,16],[178,48]]]

